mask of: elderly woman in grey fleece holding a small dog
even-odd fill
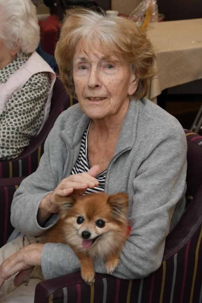
[[[75,9],[67,12],[55,55],[79,104],[59,116],[38,170],[15,193],[12,225],[28,236],[0,251],[6,302],[25,291],[22,280],[34,265],[45,279],[80,268],[68,245],[36,243],[58,220],[56,194],[128,193],[131,235],[113,273],[124,279],[159,268],[165,238],[185,209],[186,139],[174,117],[144,98],[154,62],[146,35],[131,20]],[[96,261],[95,271],[106,272],[104,261]],[[30,296],[38,281],[36,273],[26,280]]]

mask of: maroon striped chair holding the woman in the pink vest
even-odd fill
[[[22,153],[12,160],[0,160],[0,179],[29,176],[36,171],[44,152],[44,143],[58,115],[78,101],[70,97],[59,77],[56,78],[51,98],[50,115],[41,132]]]

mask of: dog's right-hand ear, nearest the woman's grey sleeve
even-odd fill
[[[128,211],[128,195],[125,192],[110,195],[107,203],[111,207],[111,214],[114,219],[123,222],[123,216],[125,217]]]

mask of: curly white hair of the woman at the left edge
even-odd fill
[[[36,7],[31,0],[0,0],[0,38],[18,56],[35,51],[40,41]]]

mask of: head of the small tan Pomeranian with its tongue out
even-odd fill
[[[57,196],[67,240],[80,249],[93,248],[99,242],[116,240],[127,225],[128,195],[88,194],[78,197]],[[110,244],[110,243],[109,243]]]

